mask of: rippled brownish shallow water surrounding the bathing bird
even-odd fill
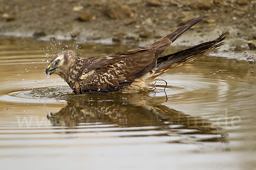
[[[75,95],[45,77],[53,54],[130,47],[73,44],[1,38],[1,169],[256,167],[255,64],[201,57],[159,77],[167,101],[164,82],[149,93]]]

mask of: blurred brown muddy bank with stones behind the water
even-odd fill
[[[209,15],[174,45],[192,46],[228,31],[227,44],[218,55],[256,59],[256,0],[0,0],[0,4],[1,35],[136,46]]]

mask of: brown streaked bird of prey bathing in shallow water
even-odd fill
[[[61,51],[49,62],[46,74],[58,74],[75,94],[149,91],[151,82],[160,74],[207,55],[225,43],[227,32],[215,40],[160,56],[180,35],[205,17],[190,21],[144,48],[86,58],[78,57],[75,51]]]

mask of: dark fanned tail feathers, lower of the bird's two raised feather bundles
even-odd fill
[[[226,37],[227,33],[224,33],[213,41],[204,42],[199,45],[195,45],[192,48],[159,57],[157,59],[157,66],[154,69],[154,74],[150,79],[154,80],[154,78],[172,68],[176,68],[203,55],[209,54],[211,51],[214,51],[223,45],[225,43],[223,40]]]

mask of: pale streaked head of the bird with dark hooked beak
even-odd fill
[[[75,51],[61,51],[56,54],[49,62],[45,72],[46,74],[65,74],[71,67],[76,65],[77,56]]]

